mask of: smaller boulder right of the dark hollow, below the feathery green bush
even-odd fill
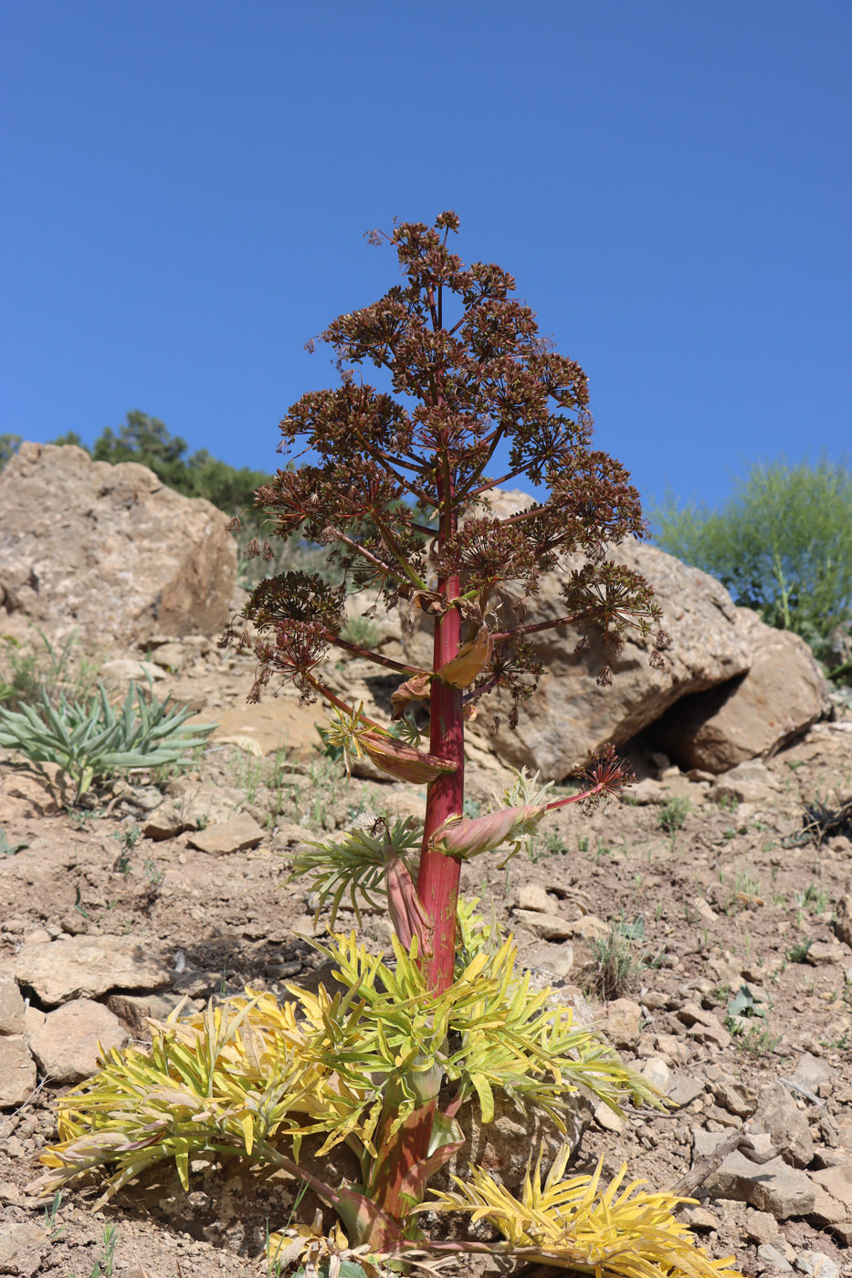
[[[748,672],[686,697],[663,717],[654,740],[683,768],[727,772],[770,758],[830,708],[828,684],[803,639],[737,608],[752,647]]]

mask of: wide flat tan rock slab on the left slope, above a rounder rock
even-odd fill
[[[24,944],[15,956],[15,978],[49,1007],[113,989],[152,990],[171,984],[169,970],[130,937],[60,937]]]

